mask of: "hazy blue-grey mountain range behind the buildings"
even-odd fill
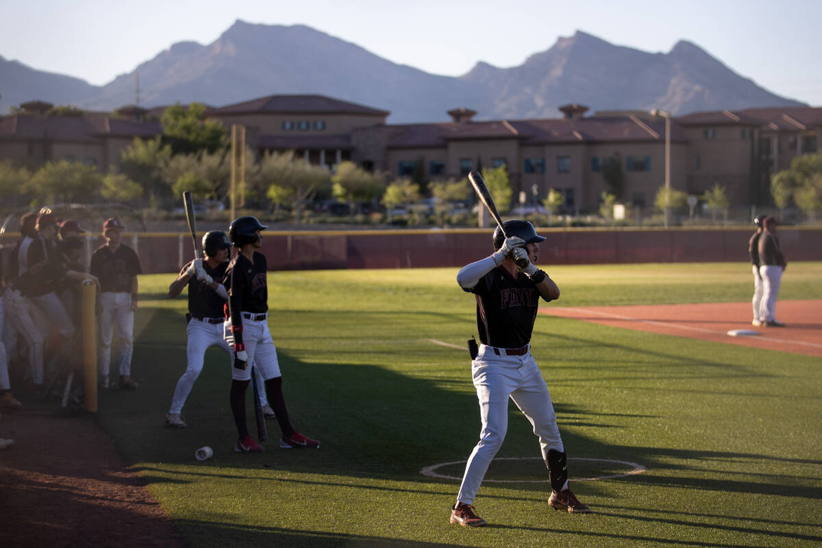
[[[569,103],[675,114],[806,106],[764,90],[686,40],[668,53],[647,53],[577,31],[519,67],[478,62],[455,77],[390,62],[305,25],[236,21],[211,44],[178,42],[102,86],[0,57],[0,113],[35,99],[90,110],[134,104],[138,75],[144,107],[323,94],[388,110],[392,123],[441,122],[458,107],[487,120],[558,117],[556,108]]]

